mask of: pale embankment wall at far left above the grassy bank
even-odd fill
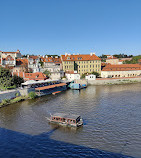
[[[16,90],[8,90],[8,91],[2,91],[2,92],[0,92],[0,102],[3,99],[12,99],[12,98],[15,98],[17,93],[19,93],[19,96],[20,96],[20,92],[17,89]]]

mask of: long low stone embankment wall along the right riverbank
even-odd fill
[[[141,77],[136,78],[101,78],[94,81],[88,81],[88,85],[112,85],[141,82]]]

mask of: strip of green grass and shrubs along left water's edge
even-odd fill
[[[30,92],[28,94],[28,96],[17,96],[13,99],[3,99],[2,102],[0,103],[0,108],[4,107],[6,105],[9,105],[9,104],[17,103],[17,102],[24,101],[27,99],[34,99],[36,97],[37,96],[36,96],[35,92]]]

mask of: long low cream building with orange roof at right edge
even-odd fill
[[[140,75],[140,64],[107,65],[101,71],[101,77],[103,78],[134,77]]]

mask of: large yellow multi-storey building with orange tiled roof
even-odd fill
[[[74,71],[82,75],[84,73],[98,72],[101,74],[101,59],[95,55],[90,54],[79,54],[61,55],[62,65],[64,71]]]

